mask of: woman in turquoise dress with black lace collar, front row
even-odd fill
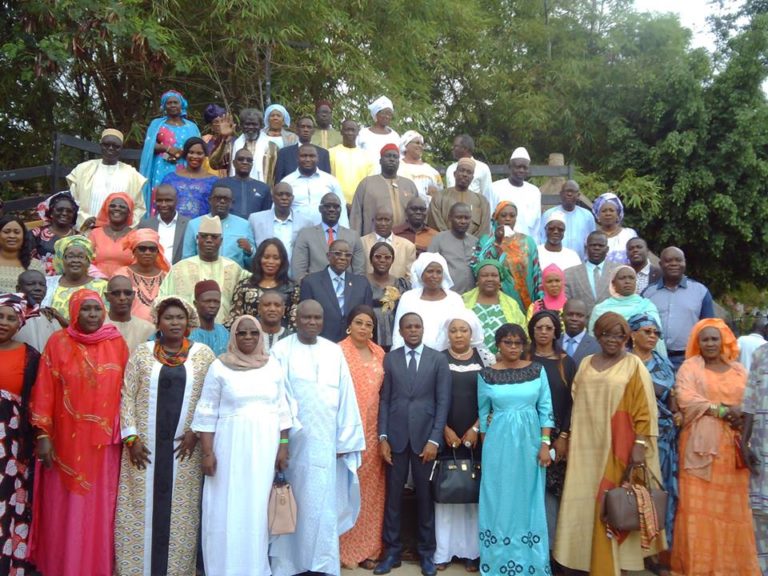
[[[478,376],[483,440],[480,481],[480,572],[549,575],[544,508],[554,426],[547,373],[523,359],[528,340],[516,324],[496,331],[499,361]],[[488,422],[492,414],[491,422]]]

